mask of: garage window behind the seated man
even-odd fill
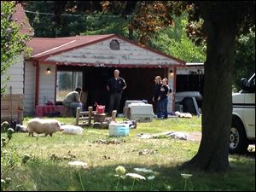
[[[67,93],[83,87],[83,72],[58,71],[56,84],[56,102],[62,102]]]

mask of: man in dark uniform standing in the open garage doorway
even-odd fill
[[[108,115],[112,114],[113,109],[119,111],[122,92],[127,86],[125,79],[119,77],[119,70],[114,70],[113,75],[114,77],[108,79],[107,84],[107,90],[110,91]]]

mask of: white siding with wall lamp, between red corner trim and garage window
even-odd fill
[[[38,105],[43,105],[48,100],[55,102],[55,65],[40,65]],[[50,68],[51,73],[46,69]]]

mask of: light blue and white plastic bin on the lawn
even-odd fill
[[[129,124],[112,123],[108,125],[109,137],[129,136]]]

